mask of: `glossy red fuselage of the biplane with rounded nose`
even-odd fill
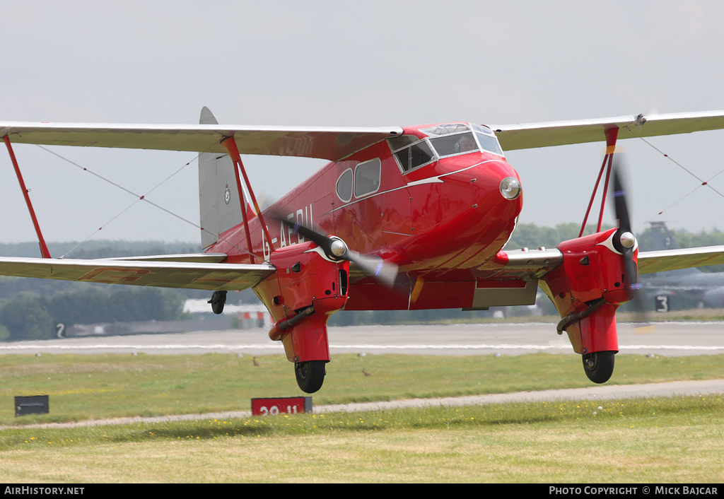
[[[458,125],[456,130],[463,133],[435,135],[432,143],[437,140],[437,146],[432,146],[421,127],[405,128],[407,143],[401,148],[382,141],[322,167],[264,211],[271,241],[264,238],[258,217],[251,219],[256,258],[269,259],[273,249],[304,242],[279,220],[284,218],[320,227],[355,251],[397,264],[409,281],[400,286],[410,288],[418,278],[426,282],[416,306],[409,300],[411,290],[405,298],[405,293],[390,293],[353,274],[348,309],[431,308],[431,304],[432,308],[472,307],[477,269],[494,258],[510,238],[522,196],[518,174],[499,146],[495,152],[484,149],[495,148],[497,141],[492,145],[479,141],[473,151],[457,151],[455,141],[479,135],[467,126]],[[494,141],[492,132],[486,131],[489,135],[480,134],[481,138]],[[441,139],[447,143],[440,145]],[[421,148],[426,150],[417,150]],[[400,156],[405,156],[403,161]],[[406,162],[408,156],[416,157]],[[503,192],[509,187],[506,179],[513,180],[512,188],[517,191]],[[247,247],[243,226],[222,236],[209,251],[229,254],[228,261],[251,261],[239,249]],[[430,300],[434,303],[428,303]]]

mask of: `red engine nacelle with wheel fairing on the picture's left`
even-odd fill
[[[292,362],[328,362],[327,320],[347,303],[349,262],[306,242],[277,249],[269,263],[277,272],[254,288],[274,319],[269,337]]]

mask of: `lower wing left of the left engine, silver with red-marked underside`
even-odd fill
[[[141,259],[1,258],[0,275],[80,282],[104,282],[161,288],[243,290],[261,282],[276,269],[269,264],[221,264],[219,255],[138,257]],[[225,257],[225,255],[224,255]]]

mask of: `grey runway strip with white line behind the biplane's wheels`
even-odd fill
[[[647,327],[618,324],[620,353],[690,356],[724,353],[724,322],[659,322]],[[334,353],[415,355],[521,355],[574,353],[555,324],[452,324],[330,327]],[[0,343],[2,353],[284,353],[265,330],[93,336]]]

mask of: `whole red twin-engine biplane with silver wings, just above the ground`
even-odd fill
[[[724,262],[724,247],[639,253],[613,166],[618,140],[724,128],[724,112],[617,117],[535,125],[445,123],[389,128],[218,125],[0,124],[41,243],[41,259],[0,259],[0,274],[214,291],[252,288],[274,319],[299,387],[313,393],[329,362],[335,311],[481,310],[555,303],[590,380],[606,382],[618,352],[615,311],[638,272]],[[555,249],[504,249],[522,208],[521,180],[504,151],[605,141],[599,232]],[[52,259],[12,143],[203,151],[204,253],[130,259]],[[328,159],[269,209],[258,207],[241,155]],[[618,227],[601,230],[609,179]],[[594,201],[589,204],[589,211]],[[586,213],[583,226],[589,213]]]

